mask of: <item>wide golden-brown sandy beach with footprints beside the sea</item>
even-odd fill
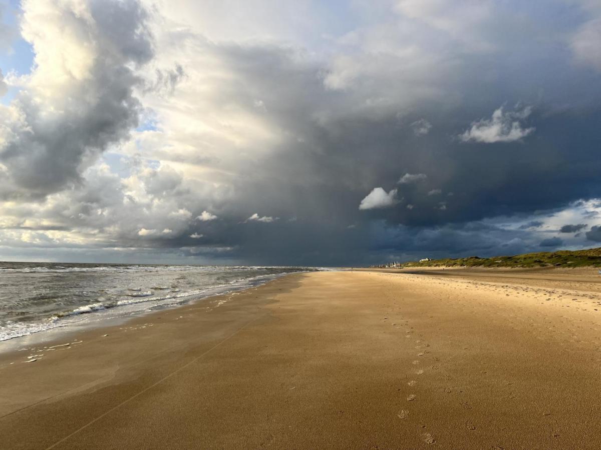
[[[294,274],[0,353],[0,448],[600,448],[600,281]]]

